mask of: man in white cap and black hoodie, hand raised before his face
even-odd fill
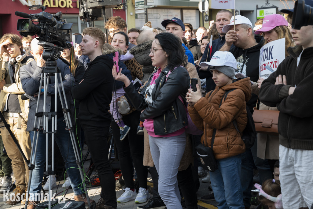
[[[255,36],[251,21],[241,15],[233,16],[228,25],[223,27],[225,44],[220,51],[230,51],[237,60],[236,73],[250,77],[251,81],[259,79],[259,56],[263,46],[263,36]],[[235,46],[231,49],[232,46]],[[247,105],[253,112],[258,96],[253,94]],[[242,154],[241,183],[244,191],[244,206],[250,207],[251,189],[253,186],[253,161],[260,174],[260,181],[271,178],[271,171],[267,160],[256,156],[257,142],[251,150]]]

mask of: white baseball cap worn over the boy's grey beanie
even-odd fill
[[[229,51],[217,51],[209,62],[201,62],[199,66],[228,66],[237,69],[237,61]]]

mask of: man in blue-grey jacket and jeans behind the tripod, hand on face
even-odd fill
[[[29,114],[28,114],[28,126],[27,130],[29,131],[30,138],[33,139],[34,131],[34,120],[35,120],[35,112],[36,112],[36,105],[38,100],[38,91],[40,88],[43,88],[40,85],[40,78],[41,78],[41,71],[42,67],[45,66],[45,60],[42,57],[43,54],[43,47],[38,45],[38,40],[33,39],[31,42],[31,54],[34,57],[34,61],[29,63],[28,65],[23,66],[20,69],[20,78],[22,82],[23,90],[28,95],[34,95],[35,100],[29,102]],[[64,91],[61,93],[65,93],[67,98],[70,98],[69,91],[70,91],[70,85],[74,81],[70,81],[70,78],[72,77],[69,66],[65,65],[61,60],[57,60],[57,66],[60,67],[61,75],[62,75],[62,81],[59,82],[59,86],[61,89],[60,82],[63,82],[64,85]],[[45,75],[44,75],[45,76]],[[49,112],[50,110],[54,110],[54,83],[55,78],[54,76],[50,76],[49,79],[49,85],[48,88],[45,89],[45,91],[48,91],[48,95],[46,97],[46,103],[45,103],[45,111]],[[62,91],[62,89],[61,89]],[[61,151],[62,157],[65,162],[67,173],[71,180],[71,186],[74,191],[74,199],[76,201],[84,201],[85,204],[87,203],[86,195],[83,190],[78,188],[78,185],[81,183],[80,178],[80,172],[78,169],[78,166],[76,165],[76,159],[74,156],[74,150],[72,147],[72,143],[69,141],[69,132],[65,129],[66,124],[64,123],[64,115],[62,112],[62,105],[59,98],[59,94],[57,95],[57,130],[58,133],[54,134],[56,143],[59,146],[59,149]],[[72,102],[72,101],[71,101]],[[69,101],[67,101],[68,104]],[[65,101],[63,101],[64,107],[65,107]],[[42,112],[44,107],[44,97],[41,96],[39,100],[39,109],[38,112]],[[51,130],[51,120],[49,121],[49,130]],[[36,126],[38,127],[38,125]],[[34,209],[36,204],[38,203],[38,193],[41,190],[41,182],[44,175],[44,163],[46,159],[46,134],[43,133],[43,131],[37,132],[39,134],[38,138],[38,148],[36,153],[36,161],[35,161],[35,169],[33,170],[32,174],[32,181],[30,184],[30,202],[28,202],[28,209]],[[49,135],[51,136],[51,135]],[[34,146],[34,144],[33,144]],[[33,156],[34,157],[34,156]],[[90,199],[90,203],[93,203],[94,201]]]

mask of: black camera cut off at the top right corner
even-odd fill
[[[291,28],[299,30],[302,26],[313,25],[312,7],[305,4],[304,0],[295,2]]]

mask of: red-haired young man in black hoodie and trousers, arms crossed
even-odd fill
[[[101,184],[101,198],[97,209],[116,208],[115,178],[110,168],[108,136],[111,114],[108,112],[112,99],[113,61],[102,55],[105,34],[99,28],[85,28],[80,43],[83,55],[91,60],[83,80],[72,88],[74,99],[80,102],[78,118],[85,133],[85,139]]]

